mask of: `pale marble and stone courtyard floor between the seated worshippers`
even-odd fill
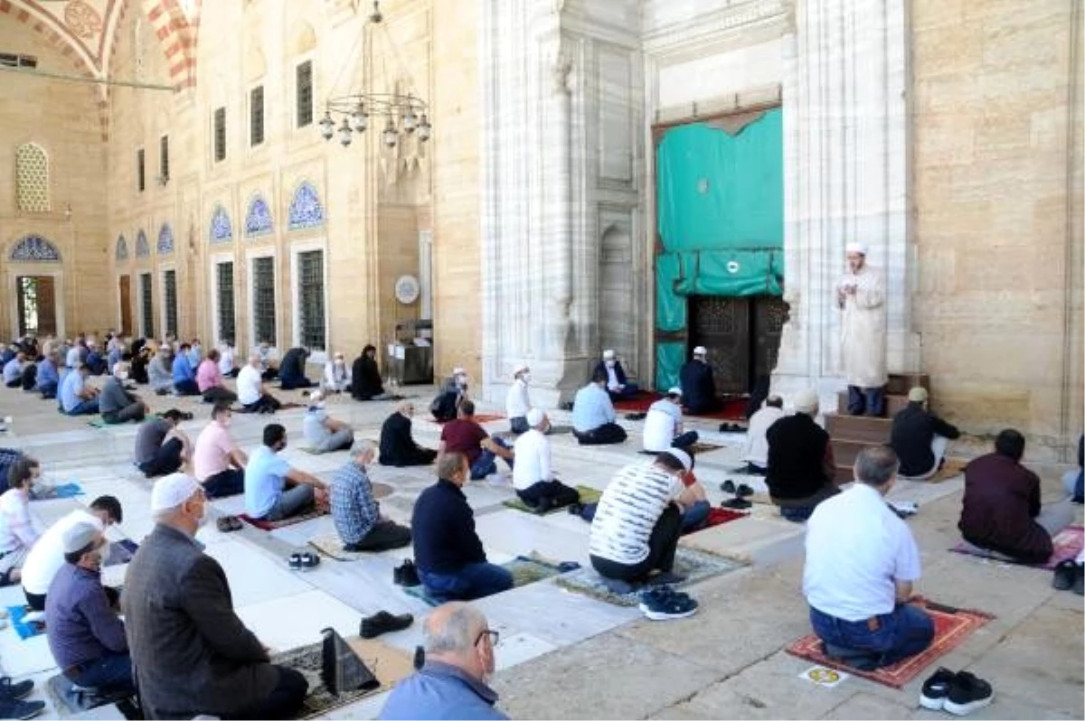
[[[435,447],[439,426],[423,420],[433,389],[408,387],[417,395],[417,439]],[[295,392],[281,398],[301,400]],[[149,397],[155,410],[171,405],[191,410],[195,420],[182,424],[193,439],[206,422],[209,407],[199,399]],[[349,421],[359,438],[376,438],[380,424],[394,403],[357,403],[332,398],[329,412]],[[480,412],[493,411],[480,408]],[[497,412],[500,412],[499,410]],[[275,416],[234,415],[232,432],[245,450],[259,443],[260,430],[272,421],[283,423],[291,446],[284,451],[293,465],[326,478],[345,460],[345,453],[310,455],[298,451],[302,409]],[[75,500],[35,502],[42,523],[63,515],[101,493],[117,495],[125,508],[120,532],[139,541],[152,528],[149,511],[151,481],[131,466],[135,425],[92,428],[82,419],[58,414],[52,402],[21,391],[0,389],[0,415],[14,422],[0,434],[0,446],[25,449],[44,463],[53,482],[78,480],[87,491]],[[569,415],[551,413],[554,423]],[[643,461],[640,422],[623,422],[630,440],[620,447],[586,449],[570,435],[553,436],[554,465],[563,480],[603,488],[624,463]],[[697,473],[718,502],[719,482],[738,461],[742,436],[719,434],[715,423],[691,422],[705,440],[722,449],[698,456]],[[486,424],[503,430],[505,421]],[[1052,498],[1059,467],[1039,469],[1045,491]],[[385,468],[371,472],[374,481],[391,485],[382,501],[393,518],[409,518],[418,493],[432,482],[432,468]],[[733,476],[732,476],[733,477]],[[753,479],[744,479],[753,480]],[[753,485],[758,490],[755,480]],[[978,713],[985,719],[1085,718],[1085,596],[1056,592],[1047,571],[988,563],[947,553],[957,540],[962,481],[923,486],[899,485],[893,495],[916,500],[919,514],[909,525],[922,552],[924,578],[919,592],[941,603],[975,607],[997,618],[939,665],[969,669],[990,680],[996,700]],[[554,561],[587,564],[588,525],[567,514],[536,517],[507,508],[508,488],[472,482],[465,492],[475,508],[478,532],[490,559],[500,563],[537,551]],[[241,499],[216,501],[214,513],[235,513]],[[1085,513],[1078,508],[1078,522]],[[284,556],[314,536],[333,529],[331,518],[265,533],[245,528],[222,535],[214,523],[200,531],[207,552],[224,566],[241,617],[269,646],[288,649],[312,643],[319,630],[334,627],[354,635],[362,616],[378,609],[409,611],[421,618],[427,608],[392,583],[392,568],[409,556],[409,549],[373,554],[354,563],[324,559],[314,571],[294,574]],[[635,608],[623,608],[578,595],[547,580],[478,602],[492,628],[501,632],[494,684],[500,707],[516,719],[922,719],[936,712],[917,710],[918,692],[929,672],[896,691],[851,678],[826,688],[800,678],[809,662],[782,648],[808,632],[801,595],[803,530],[783,522],[770,506],[755,505],[752,516],[684,539],[684,544],[741,559],[740,570],[711,578],[694,587],[699,613],[690,619],[652,622]],[[111,574],[123,572],[114,569]],[[114,579],[119,581],[119,578]],[[18,588],[0,590],[0,605],[23,602]],[[417,623],[384,639],[412,649],[421,638]],[[17,679],[43,683],[56,668],[44,636],[20,641],[9,628],[0,631],[0,666]],[[33,698],[44,698],[36,691]],[[330,719],[371,719],[383,697],[374,696],[328,714]],[[55,718],[50,714],[43,718]],[[120,718],[99,709],[81,718]]]

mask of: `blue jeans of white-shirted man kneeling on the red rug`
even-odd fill
[[[934,640],[934,621],[917,606],[899,605],[877,618],[871,630],[869,620],[845,621],[810,606],[810,626],[821,641],[870,657],[875,668],[914,656]]]

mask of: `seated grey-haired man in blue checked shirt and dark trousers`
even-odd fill
[[[376,443],[363,440],[332,480],[332,520],[345,551],[387,551],[410,544],[410,529],[381,516],[366,466],[376,456]]]

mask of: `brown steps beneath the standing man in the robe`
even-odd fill
[[[930,377],[921,374],[890,374],[885,388],[885,417],[873,419],[866,415],[847,414],[847,391],[840,392],[837,413],[826,413],[825,428],[832,442],[832,454],[837,462],[838,482],[854,480],[852,466],[855,456],[868,446],[889,442],[893,416],[908,404],[908,391],[921,385],[930,392]]]

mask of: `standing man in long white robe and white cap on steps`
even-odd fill
[[[867,265],[867,246],[847,244],[847,272],[837,285],[837,305],[844,311],[841,343],[847,381],[847,412],[885,413],[885,280]]]

